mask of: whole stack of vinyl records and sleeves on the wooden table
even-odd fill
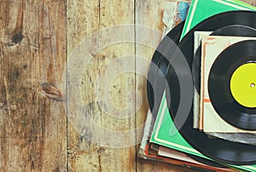
[[[256,8],[192,0],[172,9],[148,68],[150,109],[138,156],[256,171]]]

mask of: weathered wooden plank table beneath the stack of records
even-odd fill
[[[148,111],[142,75],[147,73],[154,53],[148,45],[157,45],[160,37],[146,37],[146,44],[137,43],[144,32],[135,26],[163,32],[164,2],[0,1],[1,171],[192,171],[137,158],[142,135],[139,128]],[[254,0],[247,2],[255,5]],[[102,41],[101,37],[115,37],[101,36],[102,30],[112,26],[131,29],[124,26],[127,24],[134,27],[129,37],[120,34],[116,39],[119,43],[111,45]],[[86,42],[86,37],[96,38]],[[133,41],[125,42],[127,39]],[[81,136],[72,118],[67,118],[65,109],[75,108],[64,99],[63,73],[71,70],[65,65],[67,60],[73,61],[78,53],[73,53],[74,49],[83,40],[86,50],[92,44],[102,49],[84,56],[90,61],[80,71],[82,102],[92,121],[101,129],[109,129],[110,134],[135,129],[124,140],[116,138],[126,146],[108,147],[108,142],[106,146],[92,140],[98,130],[88,133],[85,129]],[[83,49],[79,51],[83,54]],[[119,117],[119,112],[125,117]],[[110,134],[107,136],[114,136]]]

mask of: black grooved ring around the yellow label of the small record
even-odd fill
[[[235,70],[244,64],[256,62],[256,41],[235,43],[218,55],[208,78],[208,92],[212,106],[227,123],[239,129],[256,129],[256,108],[241,106],[230,91],[230,78]],[[255,76],[255,73],[249,73]],[[243,76],[249,77],[249,76]],[[250,83],[247,84],[250,87]],[[255,89],[253,93],[256,94]],[[241,90],[242,91],[242,90]],[[253,96],[256,98],[256,95]]]

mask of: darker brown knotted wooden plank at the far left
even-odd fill
[[[1,1],[0,170],[66,171],[65,1]]]

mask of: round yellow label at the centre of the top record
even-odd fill
[[[256,63],[239,66],[230,79],[234,99],[246,107],[256,107]]]

